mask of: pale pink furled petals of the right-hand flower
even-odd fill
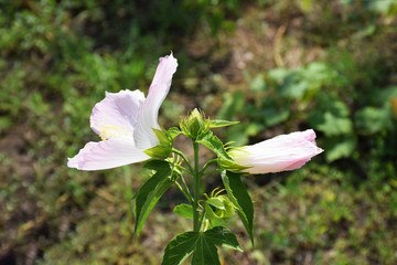
[[[293,170],[323,151],[314,139],[312,129],[297,131],[248,146],[242,151],[232,151],[230,156],[237,163],[250,167],[244,170],[249,173]]]

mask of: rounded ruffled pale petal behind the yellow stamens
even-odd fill
[[[106,97],[93,109],[89,119],[92,129],[105,139],[132,137],[143,102],[144,95],[140,91],[106,93]]]

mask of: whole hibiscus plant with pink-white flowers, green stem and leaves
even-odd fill
[[[67,166],[78,170],[103,170],[129,163],[146,162],[152,170],[151,178],[135,193],[135,236],[162,194],[176,186],[189,204],[176,205],[174,212],[193,220],[192,231],[176,235],[167,245],[162,264],[181,264],[193,254],[192,264],[221,264],[217,246],[243,251],[235,234],[227,229],[228,220],[236,213],[254,243],[254,208],[242,178],[247,173],[279,172],[303,166],[322,152],[316,147],[312,129],[281,135],[253,146],[232,148],[213,132],[216,127],[233,126],[234,121],[205,118],[197,109],[180,121],[179,128],[168,130],[158,124],[160,105],[170,91],[178,61],[172,53],[161,57],[150,85],[148,97],[140,91],[106,93],[90,116],[90,127],[100,137],[88,142]],[[173,148],[176,136],[191,139],[194,157],[191,162]],[[216,158],[201,166],[198,148],[204,146]],[[216,166],[216,169],[210,166]],[[210,195],[201,187],[202,178],[218,172],[223,189]],[[193,189],[187,186],[186,177]]]

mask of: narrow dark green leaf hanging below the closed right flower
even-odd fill
[[[254,204],[239,173],[222,172],[222,181],[230,201],[237,206],[238,215],[254,244]]]

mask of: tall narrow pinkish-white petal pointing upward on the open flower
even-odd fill
[[[172,53],[160,59],[149,94],[144,100],[138,117],[133,139],[140,149],[148,149],[159,144],[153,128],[160,129],[158,124],[159,108],[170,91],[172,75],[178,67],[176,59]]]

